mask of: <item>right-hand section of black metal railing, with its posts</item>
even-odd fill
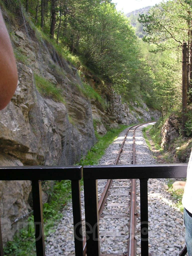
[[[141,256],[148,255],[147,180],[186,178],[187,164],[110,165],[83,167],[87,256],[99,256],[98,179],[140,179]],[[142,232],[145,230],[145,232]],[[185,254],[183,254],[185,255]]]

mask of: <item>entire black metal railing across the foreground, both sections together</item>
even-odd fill
[[[71,180],[75,255],[83,256],[80,179],[82,166],[18,166],[0,167],[0,180],[31,180],[37,256],[45,256],[40,180]],[[99,216],[97,179],[140,179],[141,255],[148,255],[147,180],[150,178],[185,178],[187,164],[110,165],[83,167],[87,256],[99,256]],[[38,225],[36,225],[38,223]],[[77,228],[78,227],[78,228]],[[0,228],[0,256],[3,242]],[[185,255],[185,254],[183,254]]]

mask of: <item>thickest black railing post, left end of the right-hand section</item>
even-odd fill
[[[84,179],[87,256],[100,256],[97,180]]]

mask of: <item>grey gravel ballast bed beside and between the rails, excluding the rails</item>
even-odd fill
[[[147,124],[146,124],[147,125]],[[100,159],[99,165],[113,165],[119,151],[122,151],[118,164],[133,164],[133,127],[128,132],[124,146],[125,131],[119,134],[118,138],[109,145],[104,156]],[[136,130],[136,164],[156,164],[156,160],[151,156],[146,143],[142,137],[141,128]],[[98,180],[98,198],[101,199],[103,189],[107,180]],[[100,252],[101,256],[129,255],[128,249],[129,226],[130,226],[130,180],[113,180],[111,188],[107,190],[108,197],[103,197],[104,205],[100,213]],[[149,251],[153,256],[176,256],[179,255],[185,245],[185,230],[183,226],[183,215],[172,201],[170,193],[164,189],[167,180],[149,179],[148,180],[148,213],[149,213]],[[140,189],[139,181],[136,181],[136,210],[137,222],[135,236],[133,236],[134,246],[136,246],[136,256],[141,255],[140,240]],[[105,201],[106,200],[106,201]],[[85,235],[85,212],[84,212],[84,190],[81,191],[81,210],[83,235]],[[46,238],[46,255],[74,255],[74,234],[73,216],[71,215],[72,202],[68,202],[62,211],[63,218],[55,226],[54,231]],[[134,212],[134,211],[133,211]],[[134,216],[135,216],[134,213]],[[177,234],[177,235],[176,235]],[[84,242],[84,249],[86,244]],[[132,247],[133,248],[133,247]],[[85,250],[84,250],[85,251]],[[134,250],[135,251],[135,247]],[[135,252],[134,252],[135,253]]]

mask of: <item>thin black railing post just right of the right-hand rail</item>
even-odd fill
[[[141,256],[148,256],[148,179],[140,179]]]

